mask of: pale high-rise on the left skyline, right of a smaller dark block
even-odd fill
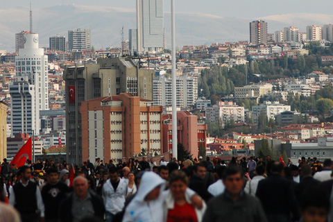
[[[68,51],[82,51],[88,50],[91,47],[90,30],[76,30],[68,31]]]

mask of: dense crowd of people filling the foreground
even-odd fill
[[[73,166],[73,178],[70,168],[27,160],[17,169],[4,159],[0,221],[333,221],[330,159],[97,158]]]

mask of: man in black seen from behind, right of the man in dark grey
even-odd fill
[[[283,165],[274,162],[271,166],[271,175],[259,181],[256,196],[261,200],[269,222],[298,220],[298,204],[291,182],[282,177]]]

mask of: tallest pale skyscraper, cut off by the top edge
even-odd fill
[[[137,0],[137,46],[142,51],[162,51],[163,0]]]

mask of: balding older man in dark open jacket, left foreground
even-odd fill
[[[73,183],[74,192],[60,205],[60,221],[78,222],[86,216],[103,220],[105,207],[101,196],[88,191],[88,181],[83,176],[76,177]]]

